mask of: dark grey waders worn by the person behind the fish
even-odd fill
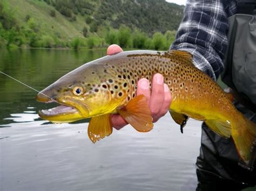
[[[256,123],[256,0],[249,2],[238,4],[238,13],[228,18],[228,49],[221,77],[233,89],[235,107]],[[196,163],[197,190],[241,190],[255,186],[256,149],[251,164],[246,166],[239,159],[232,138],[216,135],[205,124],[202,128]]]

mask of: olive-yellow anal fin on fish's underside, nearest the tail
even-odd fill
[[[231,123],[228,121],[218,121],[218,119],[207,119],[205,124],[215,133],[224,138],[231,136]]]

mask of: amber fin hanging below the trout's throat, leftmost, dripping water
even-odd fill
[[[113,131],[110,114],[92,117],[88,126],[88,136],[93,143],[111,135]]]

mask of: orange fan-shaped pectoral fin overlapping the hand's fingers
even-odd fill
[[[151,111],[144,95],[136,96],[125,106],[117,108],[117,112],[139,132],[153,129]]]

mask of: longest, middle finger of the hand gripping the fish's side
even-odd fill
[[[161,74],[155,74],[152,80],[152,93],[150,99],[150,110],[153,122],[158,115],[164,102],[164,77]]]

